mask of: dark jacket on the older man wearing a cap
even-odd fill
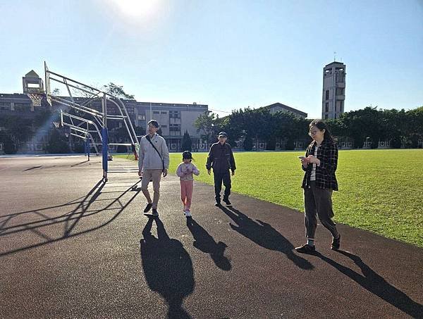
[[[207,170],[213,168],[214,172],[219,173],[226,172],[229,169],[234,171],[236,169],[235,158],[233,158],[231,145],[214,143],[210,147],[209,156],[207,156],[206,168]]]

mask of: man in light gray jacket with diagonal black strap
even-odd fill
[[[141,190],[147,199],[144,213],[148,213],[153,208],[152,215],[158,216],[157,204],[160,197],[161,175],[166,177],[169,168],[169,151],[166,141],[157,134],[159,123],[157,120],[150,120],[148,123],[148,134],[140,141],[140,151],[138,158],[138,175],[142,176]],[[153,181],[153,201],[148,191],[149,181]]]

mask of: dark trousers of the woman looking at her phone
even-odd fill
[[[338,238],[338,230],[332,220],[332,189],[319,188],[316,187],[316,182],[310,182],[310,188],[304,189],[304,208],[307,238],[314,239],[317,227],[316,215],[319,216],[321,225],[324,225],[334,238]]]

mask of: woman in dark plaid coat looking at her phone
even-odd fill
[[[341,235],[332,220],[332,192],[338,190],[335,176],[338,165],[338,146],[322,120],[313,120],[309,124],[309,135],[313,141],[307,147],[305,156],[300,156],[302,170],[305,171],[302,188],[304,189],[307,243],[295,250],[300,253],[312,253],[316,250],[314,234],[317,216],[321,225],[324,225],[332,234],[331,249],[338,250]]]

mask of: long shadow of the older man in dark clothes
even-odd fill
[[[232,229],[239,232],[243,236],[252,240],[259,246],[274,251],[281,251],[285,254],[290,261],[293,261],[295,265],[305,270],[312,270],[314,266],[312,263],[307,261],[305,258],[294,254],[294,246],[288,239],[282,236],[280,232],[271,227],[268,223],[264,223],[262,220],[252,220],[247,215],[241,213],[237,209],[228,206],[228,208],[220,207],[223,213],[229,216],[238,226],[231,225]]]

